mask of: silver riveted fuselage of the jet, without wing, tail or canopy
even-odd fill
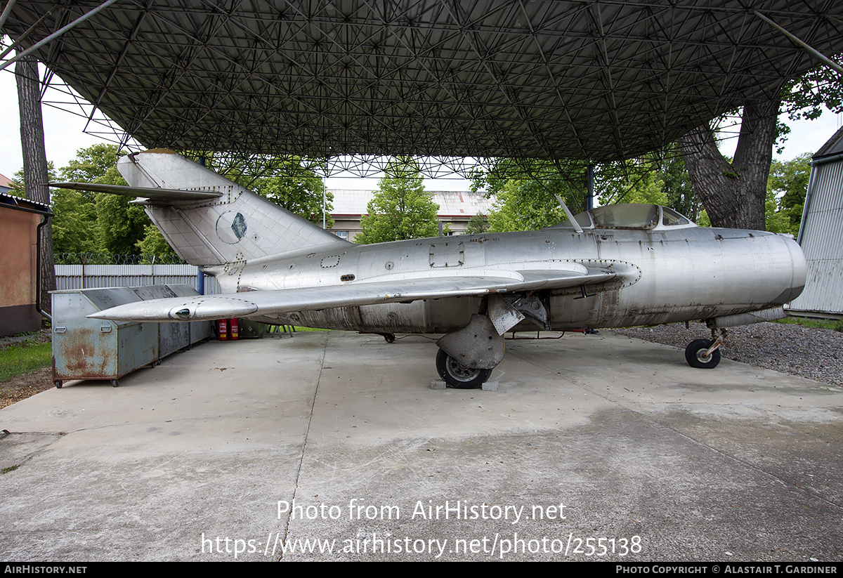
[[[805,283],[801,249],[786,236],[705,227],[674,230],[549,227],[524,233],[423,238],[210,267],[223,292],[389,279],[553,270],[576,263],[615,271],[609,282],[537,290],[550,329],[598,329],[716,318],[771,308]],[[464,328],[481,297],[327,308],[256,318],[271,324],[389,333]],[[524,320],[515,329],[537,329]]]

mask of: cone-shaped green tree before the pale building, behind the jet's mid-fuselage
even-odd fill
[[[396,158],[386,168],[378,192],[360,219],[358,244],[384,243],[409,238],[435,237],[439,206],[424,190],[421,171],[410,158]]]

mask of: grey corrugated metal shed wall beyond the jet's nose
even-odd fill
[[[843,158],[814,161],[799,244],[808,281],[791,310],[843,315]]]

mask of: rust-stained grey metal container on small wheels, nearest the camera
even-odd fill
[[[158,324],[90,319],[86,315],[142,301],[129,287],[52,292],[53,381],[117,380],[158,361]]]

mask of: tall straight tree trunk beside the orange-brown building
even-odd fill
[[[24,152],[24,185],[26,198],[50,206],[47,187],[47,157],[44,148],[44,123],[41,120],[38,61],[24,56],[14,68],[18,78],[18,107],[20,113],[20,145]],[[49,312],[50,291],[56,289],[56,268],[53,264],[52,228],[41,228],[40,308]]]

